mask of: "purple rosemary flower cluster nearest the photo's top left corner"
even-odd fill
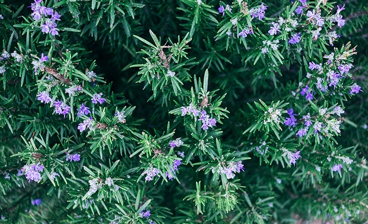
[[[51,33],[51,35],[55,36],[59,34],[59,29],[56,28],[56,20],[60,21],[61,15],[58,14],[52,8],[48,8],[46,6],[41,5],[42,0],[34,0],[34,3],[31,4],[32,13],[31,16],[35,21],[41,22],[41,31],[43,33]],[[49,18],[49,16],[51,16]]]

